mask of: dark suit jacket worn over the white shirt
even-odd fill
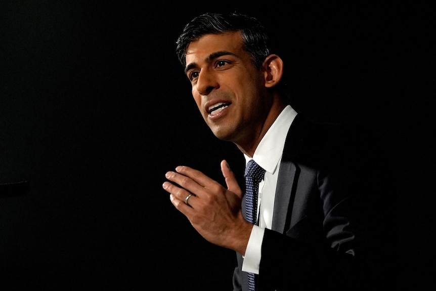
[[[393,289],[389,170],[361,128],[298,114],[286,138],[257,291]],[[245,291],[240,254],[237,260],[234,290]]]

